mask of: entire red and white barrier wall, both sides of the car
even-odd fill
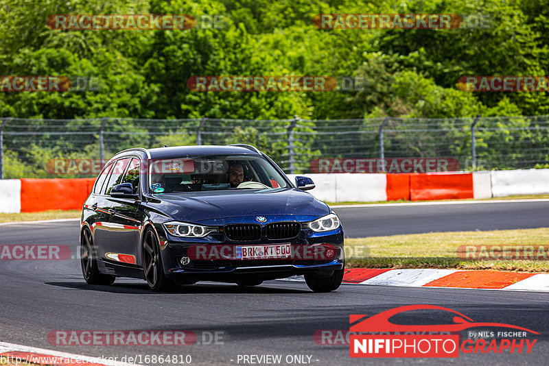
[[[294,180],[295,174],[288,177]],[[549,193],[549,169],[475,173],[307,174],[327,202],[423,201]],[[0,180],[0,212],[80,210],[95,178]]]

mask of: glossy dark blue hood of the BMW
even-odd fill
[[[149,204],[178,221],[206,223],[215,219],[296,215],[315,219],[330,212],[324,202],[299,189],[210,191],[152,195]],[[226,221],[226,222],[230,222]],[[270,220],[268,220],[270,221]]]

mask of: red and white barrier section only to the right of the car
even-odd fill
[[[306,175],[317,186],[310,193],[327,202],[478,199],[549,193],[549,169],[474,173]],[[288,176],[292,180],[295,177]]]

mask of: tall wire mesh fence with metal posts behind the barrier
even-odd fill
[[[459,170],[549,167],[549,116],[456,119],[0,119],[0,178],[52,173],[56,159],[108,159],[130,147],[248,143],[287,173],[319,159],[446,158]],[[379,171],[379,165],[377,165]],[[384,170],[383,167],[381,169]],[[345,172],[339,168],[336,171]],[[391,171],[390,171],[391,172]]]

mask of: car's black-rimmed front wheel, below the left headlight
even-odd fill
[[[179,286],[166,278],[162,265],[159,240],[152,229],[145,232],[143,238],[143,273],[149,289],[155,292],[172,292]]]

